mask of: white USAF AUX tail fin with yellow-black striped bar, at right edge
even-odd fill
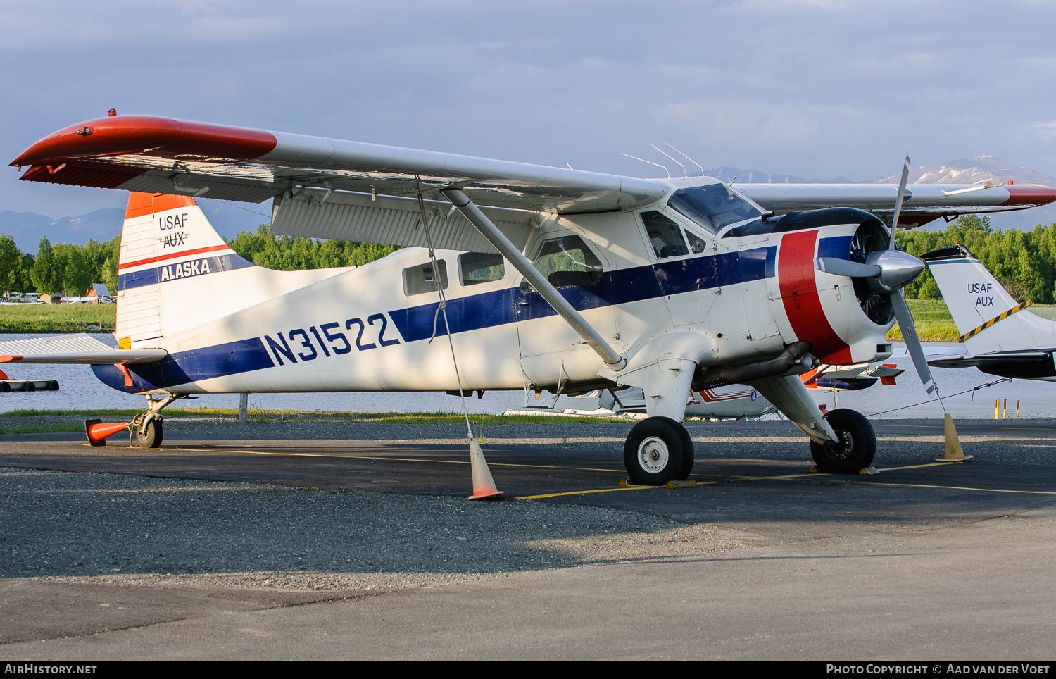
[[[921,259],[935,276],[957,332],[972,354],[1056,344],[1056,323],[1035,316],[1016,302],[968,248],[944,247]]]

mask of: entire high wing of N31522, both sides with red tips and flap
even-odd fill
[[[484,239],[450,213],[442,189],[460,189],[514,244],[549,214],[624,210],[682,186],[717,182],[642,180],[526,163],[437,153],[249,128],[117,116],[51,134],[11,165],[22,180],[260,203],[275,199],[276,232],[426,245],[420,196],[436,230],[434,245],[477,249]],[[897,187],[876,184],[746,184],[737,190],[766,210],[861,207],[893,212]],[[378,195],[397,196],[379,204]],[[402,196],[402,200],[400,200]],[[414,200],[407,200],[413,197]],[[911,185],[900,223],[941,215],[1025,209],[1056,200],[1041,186]],[[455,216],[455,221],[445,218]],[[503,224],[501,222],[507,222]],[[520,242],[520,243],[518,243]],[[487,249],[491,249],[487,247]]]

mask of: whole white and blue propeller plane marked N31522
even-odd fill
[[[901,291],[924,264],[893,248],[894,225],[1056,199],[907,187],[908,158],[900,187],[734,188],[114,111],[12,165],[29,166],[26,181],[133,191],[120,348],[2,353],[91,363],[153,397],[132,422],[143,446],[159,442],[162,408],[196,393],[636,386],[648,417],[624,461],[653,485],[691,472],[690,392],[733,383],[799,427],[821,469],[868,466],[869,421],[823,416],[798,375],[889,356],[897,317],[934,390]],[[208,226],[192,200],[206,194],[274,199],[276,233],[410,247],[357,268],[263,269]]]

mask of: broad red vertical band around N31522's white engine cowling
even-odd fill
[[[843,364],[851,359],[850,347],[829,325],[817,298],[814,280],[814,251],[817,230],[787,233],[777,254],[777,280],[780,283],[785,313],[797,339],[813,346],[810,353],[823,363]]]

